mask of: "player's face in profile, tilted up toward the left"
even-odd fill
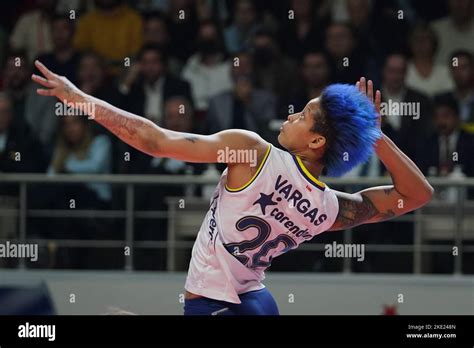
[[[319,112],[319,98],[313,99],[305,108],[288,116],[288,120],[283,123],[278,135],[278,142],[290,152],[302,152],[310,148],[315,148],[321,136],[312,131],[314,127],[314,115]]]

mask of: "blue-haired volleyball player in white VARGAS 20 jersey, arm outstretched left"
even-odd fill
[[[374,96],[372,82],[364,78],[356,87],[331,85],[304,110],[288,116],[278,137],[287,150],[282,151],[244,130],[206,136],[164,129],[85,94],[65,77],[35,64],[44,78],[32,79],[46,87],[38,90],[40,95],[89,112],[124,142],[151,156],[214,163],[222,160],[224,151],[249,153],[226,160],[193,248],[185,314],[278,314],[262,284],[272,258],[324,231],[407,213],[433,194],[416,165],[381,133],[380,92]],[[328,175],[342,175],[367,161],[374,149],[393,185],[347,194],[318,180],[323,168]],[[251,153],[257,165],[252,165]]]

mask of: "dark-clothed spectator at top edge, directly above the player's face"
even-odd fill
[[[315,20],[315,2],[311,0],[291,0],[290,9],[282,20],[278,37],[282,51],[299,60],[310,51],[322,48],[323,38],[319,33],[324,31],[328,18]]]

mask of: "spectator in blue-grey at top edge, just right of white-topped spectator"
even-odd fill
[[[234,21],[224,31],[226,48],[230,54],[250,49],[254,35],[259,28],[253,1],[237,0],[234,10]]]

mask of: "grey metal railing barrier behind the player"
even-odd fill
[[[446,179],[446,178],[429,178],[430,183],[437,188],[456,188],[457,195],[455,201],[452,202],[433,202],[426,207],[415,211],[412,215],[404,215],[394,219],[393,221],[413,221],[414,243],[413,245],[398,244],[370,244],[366,245],[367,251],[382,252],[413,252],[413,273],[421,273],[422,271],[422,252],[440,252],[451,251],[453,247],[457,248],[458,256],[454,262],[454,273],[462,273],[462,257],[463,253],[474,252],[474,246],[463,246],[463,240],[466,239],[464,232],[472,233],[474,240],[474,223],[471,225],[469,221],[465,221],[465,210],[472,209],[474,211],[474,202],[465,200],[465,192],[468,188],[474,187],[474,178]],[[371,187],[377,185],[390,184],[388,178],[347,178],[347,179],[326,179],[325,182],[331,187]],[[1,209],[1,216],[18,217],[18,243],[37,243],[38,245],[46,245],[51,242],[50,239],[29,239],[27,235],[27,217],[97,217],[97,218],[123,218],[125,219],[125,239],[122,240],[54,240],[59,247],[85,247],[85,248],[113,248],[129,246],[132,250],[134,247],[139,248],[159,248],[168,251],[167,270],[175,271],[175,259],[177,249],[189,249],[193,242],[178,241],[175,238],[167,241],[134,241],[134,220],[138,218],[165,218],[173,219],[170,211],[136,211],[134,209],[135,187],[139,185],[215,185],[216,180],[202,176],[193,175],[44,175],[44,174],[0,174],[0,183],[11,183],[19,185],[19,203],[17,209]],[[44,210],[44,209],[28,209],[27,190],[31,184],[74,184],[74,183],[108,183],[125,187],[125,210]],[[463,193],[464,192],[464,193]],[[446,207],[453,209],[454,216],[454,245],[424,245],[423,244],[423,224],[440,215],[427,215],[427,211],[433,208],[444,209]],[[444,207],[444,208],[443,208]],[[205,211],[202,212],[204,218]],[[474,218],[474,214],[467,216]],[[465,222],[465,223],[464,223]],[[390,223],[390,222],[388,222]],[[466,225],[466,226],[465,226]],[[175,236],[176,231],[173,230],[174,225],[169,225],[168,236]],[[197,230],[196,230],[197,233]],[[351,243],[352,230],[348,229],[344,233],[344,243]],[[471,236],[467,236],[471,238]],[[448,238],[449,239],[449,238]],[[0,240],[0,242],[5,241]],[[320,251],[324,249],[324,245],[303,244],[296,252]],[[170,256],[171,255],[171,256]],[[25,268],[25,260],[20,259],[20,268]],[[125,256],[125,269],[133,270],[133,257]],[[344,272],[350,273],[351,260],[344,259]]]

